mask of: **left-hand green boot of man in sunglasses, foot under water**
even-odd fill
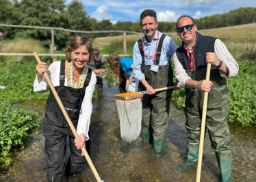
[[[193,149],[188,147],[187,149],[187,160],[185,160],[184,164],[179,164],[176,169],[185,172],[190,170],[192,166],[196,163],[199,158],[199,149]]]

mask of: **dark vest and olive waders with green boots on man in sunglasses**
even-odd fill
[[[194,61],[196,62],[196,67],[204,67],[205,53],[214,52],[214,38],[202,36],[199,33],[198,38],[199,41],[206,42],[205,44],[207,44],[207,48],[205,49],[206,51],[203,52],[198,50],[199,53],[196,55],[194,54]],[[199,44],[200,48],[202,42],[197,41],[196,46]],[[203,61],[202,58],[199,58],[200,54],[203,55],[201,56]],[[181,65],[183,65],[188,76],[196,81],[205,80],[206,68],[190,70],[187,66],[189,65],[189,60],[185,57],[186,55],[187,54],[181,53],[180,49],[177,50],[179,61],[181,62]],[[202,63],[204,63],[204,65],[202,65]],[[220,76],[220,71],[214,66],[212,66],[209,79],[213,85],[208,94],[205,128],[208,130],[209,139],[212,143],[211,147],[216,153],[222,181],[231,181],[231,134],[228,125],[229,89],[227,87],[226,78]],[[187,160],[185,164],[179,166],[179,170],[182,171],[188,170],[190,166],[198,160],[204,91],[185,88],[185,95],[185,127],[188,131],[188,140],[186,153]]]

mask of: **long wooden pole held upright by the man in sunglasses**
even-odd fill
[[[211,63],[207,63],[206,79],[205,80],[209,81],[210,73],[211,73]],[[202,115],[202,123],[201,123],[201,133],[200,133],[200,143],[199,143],[199,161],[197,162],[196,182],[199,182],[200,178],[201,178],[202,157],[203,157],[203,140],[205,138],[205,119],[206,119],[206,111],[207,111],[207,100],[208,100],[208,92],[205,91],[205,96],[203,97],[203,115]]]

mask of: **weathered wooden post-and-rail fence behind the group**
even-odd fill
[[[143,33],[134,32],[134,31],[118,31],[118,30],[110,30],[110,31],[75,31],[75,30],[62,29],[62,28],[56,28],[56,27],[38,27],[38,26],[27,26],[27,25],[5,25],[5,24],[0,24],[0,27],[16,27],[16,28],[27,28],[27,29],[51,29],[50,54],[38,53],[38,55],[39,56],[51,56],[52,57],[52,61],[53,61],[53,57],[55,57],[55,56],[65,56],[64,54],[54,54],[54,30],[69,31],[69,32],[74,32],[74,33],[111,33],[111,32],[123,33],[124,55],[118,55],[120,57],[127,57],[127,56],[129,56],[129,55],[127,55],[126,33],[143,34]],[[12,52],[0,52],[0,55],[34,56],[32,53],[12,53]],[[108,56],[108,55],[103,55],[103,56]]]

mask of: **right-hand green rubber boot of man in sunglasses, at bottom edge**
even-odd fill
[[[222,159],[217,157],[218,168],[220,168],[220,174],[222,182],[231,182],[231,158]]]

